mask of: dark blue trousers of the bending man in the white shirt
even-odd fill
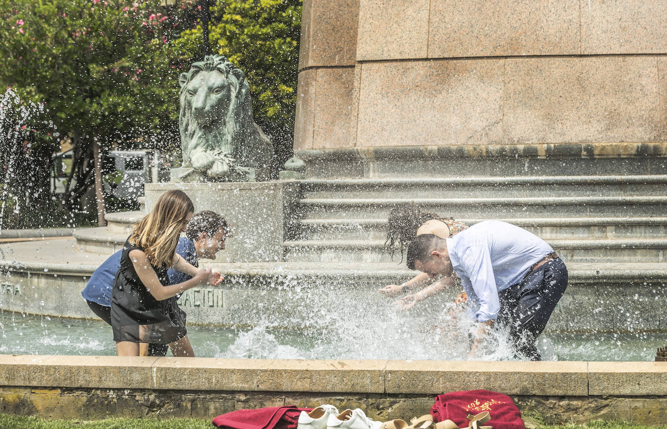
[[[513,346],[530,360],[542,360],[536,340],[568,286],[560,258],[529,272],[524,280],[498,292],[499,326],[509,329]]]

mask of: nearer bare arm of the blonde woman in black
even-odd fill
[[[153,298],[158,301],[177,296],[184,290],[194,288],[200,284],[205,284],[209,281],[215,282],[215,276],[210,268],[200,268],[190,280],[179,284],[163,286],[157,278],[155,270],[153,270],[150,262],[148,262],[145,253],[141,252],[141,250],[131,250],[129,252],[129,258],[132,261],[132,265],[134,266],[137,276],[139,276],[139,280],[141,280],[143,286],[145,286]]]

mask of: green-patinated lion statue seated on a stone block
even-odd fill
[[[217,179],[269,179],[273,147],[255,124],[245,73],[207,55],[179,77],[183,169]]]

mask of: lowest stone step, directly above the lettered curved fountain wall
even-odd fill
[[[667,239],[546,240],[565,262],[665,262]],[[293,240],[285,260],[301,262],[392,262],[384,240]],[[400,256],[394,258],[399,263]]]

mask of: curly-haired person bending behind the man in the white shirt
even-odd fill
[[[445,239],[466,230],[466,228],[468,228],[466,224],[456,222],[452,218],[443,218],[430,211],[424,211],[414,202],[404,203],[396,205],[389,213],[385,248],[392,257],[396,254],[398,248],[401,252],[401,258],[403,258],[408,243],[414,240],[416,236],[434,234]],[[385,286],[379,292],[388,296],[395,296],[402,292],[407,294],[416,288],[423,288],[419,292],[406,295],[394,303],[401,310],[408,310],[414,307],[417,302],[430,298],[454,284],[456,284],[456,277],[444,276],[434,282],[432,278],[422,273],[404,284]],[[465,300],[465,295],[460,294],[455,302],[459,304]]]

